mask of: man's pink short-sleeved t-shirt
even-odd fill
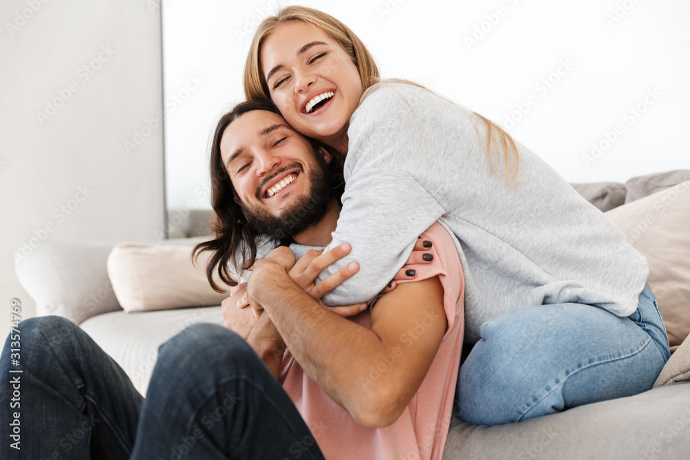
[[[433,241],[428,252],[434,258],[431,263],[412,266],[417,270],[417,277],[411,281],[439,277],[444,288],[448,328],[422,385],[393,425],[377,429],[359,426],[346,410],[304,373],[289,350],[285,353],[280,374],[281,380],[284,380],[283,388],[295,402],[328,460],[441,459],[460,366],[464,331],[464,278],[455,243],[440,223],[429,227],[422,238]],[[370,317],[371,309],[353,317],[352,321],[368,328]],[[434,320],[431,314],[428,320]],[[424,332],[423,323],[418,325],[420,330],[417,334]],[[404,343],[414,346],[415,330],[409,334],[409,341]],[[387,366],[384,357],[375,368],[371,367],[371,372],[360,377],[360,381],[365,384],[374,381],[377,373],[385,372]]]

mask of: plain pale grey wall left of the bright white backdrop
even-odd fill
[[[5,337],[10,299],[34,316],[14,276],[17,248],[31,257],[45,239],[152,241],[163,230],[162,128],[131,153],[125,145],[163,97],[153,1],[3,0],[0,24]]]

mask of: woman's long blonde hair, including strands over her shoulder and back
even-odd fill
[[[266,83],[264,72],[262,71],[261,48],[266,39],[268,39],[270,34],[272,34],[278,26],[293,21],[302,21],[324,30],[329,37],[342,46],[343,50],[351,57],[359,72],[359,78],[362,80],[362,92],[381,81],[379,68],[373,56],[366,49],[364,43],[362,43],[359,37],[357,37],[348,26],[338,21],[330,14],[314,10],[313,8],[306,8],[305,6],[287,6],[279,10],[275,16],[264,19],[264,21],[259,24],[259,28],[257,28],[257,32],[254,35],[244,65],[244,95],[248,100],[272,101],[270,90],[268,90],[268,83]],[[424,88],[424,86],[408,80],[395,79],[386,81],[408,83]],[[431,91],[428,88],[424,89]],[[437,93],[434,92],[434,94]],[[440,96],[440,94],[437,95]],[[515,141],[510,134],[493,123],[493,121],[486,119],[476,112],[473,112],[473,114],[482,121],[486,128],[485,153],[491,173],[495,174],[495,172],[500,171],[500,168],[494,166],[494,162],[500,162],[501,157],[503,157],[506,181],[508,183],[515,182],[517,185],[517,170],[520,164],[520,154],[517,152]],[[481,139],[482,136],[476,125],[475,130],[477,130],[477,136]],[[502,155],[497,150],[497,144],[499,143],[502,148]],[[512,166],[514,166],[514,168]]]

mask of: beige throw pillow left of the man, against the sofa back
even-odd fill
[[[126,312],[170,310],[220,305],[230,294],[215,292],[206,279],[204,252],[197,267],[190,259],[193,246],[120,243],[108,256],[108,277],[117,301]],[[218,282],[224,287],[224,283]]]

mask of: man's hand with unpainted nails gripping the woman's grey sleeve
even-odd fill
[[[328,252],[322,250],[310,249],[304,254],[301,259],[295,260],[295,256],[288,248],[276,248],[271,251],[266,259],[259,262],[275,263],[282,266],[290,279],[292,279],[297,286],[302,288],[311,297],[317,301],[321,301],[324,295],[331,292],[339,286],[343,281],[353,276],[359,271],[359,264],[357,262],[348,263],[347,266],[341,268],[336,273],[324,279],[321,283],[315,284],[315,281],[324,268],[330,266],[335,261],[338,261],[349,254],[351,246],[348,243],[343,243]],[[288,254],[289,252],[289,254]],[[255,266],[255,269],[258,268]],[[237,303],[239,308],[246,308],[249,306],[249,300],[245,294]],[[253,306],[255,308],[255,306]],[[329,308],[332,312],[339,314],[342,317],[351,317],[366,308],[366,303],[340,306]]]

